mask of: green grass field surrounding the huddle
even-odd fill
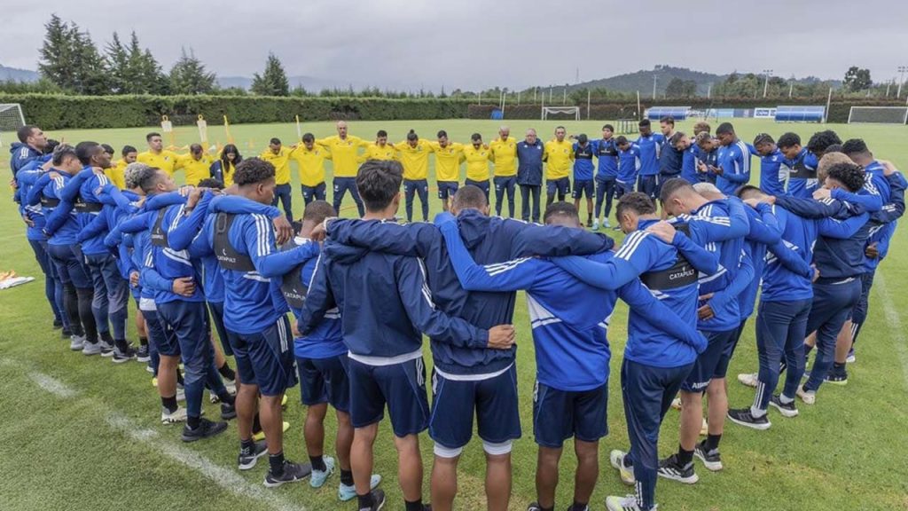
[[[573,134],[597,136],[602,122],[510,123],[511,133],[522,138],[529,126],[548,139],[555,125],[564,124]],[[746,141],[765,131],[781,135],[795,130],[806,140],[821,126],[776,125],[771,121],[738,120],[739,135]],[[690,123],[679,128],[690,130]],[[843,139],[861,136],[879,157],[893,160],[908,169],[908,140],[905,126],[831,125]],[[466,142],[473,132],[489,141],[498,124],[493,121],[394,121],[353,122],[350,133],[370,138],[378,129],[400,140],[410,128],[423,137],[438,129],[448,130],[455,141]],[[304,126],[317,136],[331,135],[333,125]],[[148,128],[54,132],[49,135],[67,142],[91,139],[119,148],[123,144],[143,147]],[[296,139],[293,125],[236,125],[232,133],[244,155],[262,151],[271,136],[285,143]],[[178,128],[177,145],[197,136],[194,127]],[[212,126],[209,138],[225,141],[222,129]],[[10,138],[4,137],[5,141]],[[754,160],[755,168],[758,162]],[[0,162],[0,175],[8,175],[8,160]],[[757,173],[752,177],[756,182]],[[294,179],[296,177],[294,176]],[[433,179],[430,178],[430,183]],[[299,187],[294,185],[294,211],[302,211]],[[24,225],[16,215],[8,187],[0,192],[0,270],[15,269],[25,276],[40,277]],[[432,214],[440,209],[432,195]],[[349,201],[350,199],[348,199]],[[352,204],[352,203],[350,203]],[[518,205],[519,211],[519,205]],[[355,213],[349,209],[345,215]],[[401,212],[402,213],[402,212]],[[615,232],[610,231],[610,235]],[[889,258],[877,272],[871,296],[870,316],[858,345],[858,362],[849,366],[848,386],[824,386],[815,406],[800,406],[801,415],[785,419],[770,412],[773,427],[758,432],[728,424],[722,442],[725,470],[712,474],[697,462],[701,480],[695,486],[660,481],[657,500],[663,510],[732,509],[908,509],[908,344],[903,328],[903,311],[908,298],[901,286],[908,285],[908,237],[904,228],[893,240]],[[40,281],[40,279],[39,279]],[[531,396],[534,381],[533,345],[526,307],[517,307],[518,371],[521,418],[524,436],[514,447],[514,488],[511,509],[526,509],[535,499],[536,446],[533,442]],[[338,477],[318,491],[308,484],[265,490],[264,464],[249,473],[235,470],[237,436],[235,426],[209,441],[183,445],[177,426],[158,421],[160,402],[150,385],[151,377],[139,364],[114,366],[108,359],[85,357],[68,350],[68,342],[51,328],[52,316],[44,300],[42,285],[32,283],[0,291],[0,509],[352,509],[336,500]],[[908,316],[904,321],[908,321]],[[627,334],[627,306],[617,307],[611,322],[612,381],[609,389],[609,436],[601,443],[601,474],[591,502],[604,507],[607,495],[624,495],[617,474],[608,465],[608,451],[627,448],[627,432],[621,405],[618,369]],[[751,322],[752,325],[752,322]],[[131,331],[133,328],[131,327]],[[134,332],[134,331],[133,331]],[[133,334],[133,340],[135,339]],[[428,349],[427,360],[430,359]],[[732,406],[749,405],[750,388],[734,382],[739,372],[756,367],[755,336],[752,326],[732,361],[729,400]],[[290,392],[291,406],[286,418],[291,430],[286,452],[304,460],[299,390]],[[205,405],[210,416],[217,409]],[[396,455],[390,428],[380,428],[376,444],[376,470],[384,476],[382,486],[389,495],[386,509],[402,509],[397,486]],[[329,438],[333,423],[329,426]],[[677,414],[666,417],[660,452],[676,448]],[[326,444],[328,451],[333,442]],[[429,498],[431,442],[422,438],[426,462],[424,496]],[[570,504],[573,491],[572,448],[566,444],[558,487],[558,508]],[[484,461],[481,446],[472,444],[460,463],[459,509],[485,506],[482,481]]]

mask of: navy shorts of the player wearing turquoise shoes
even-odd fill
[[[347,354],[331,358],[296,357],[300,373],[301,402],[305,406],[331,403],[335,410],[350,413],[350,378]]]

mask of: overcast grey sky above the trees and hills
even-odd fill
[[[861,65],[883,82],[908,65],[901,0],[0,0],[0,64],[36,69],[54,11],[99,46],[134,30],[165,69],[185,46],[218,75],[252,76],[271,51],[288,75],[357,87],[515,88],[662,64],[838,79]]]

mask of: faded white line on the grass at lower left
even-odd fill
[[[79,392],[76,389],[67,386],[53,376],[48,376],[39,371],[25,368],[15,360],[0,359],[0,366],[15,366],[24,369],[25,375],[35,382],[35,385],[61,399],[71,399],[79,395]],[[84,398],[84,400],[89,401],[88,398]],[[290,500],[272,490],[266,489],[264,486],[250,484],[232,468],[220,466],[188,447],[165,440],[157,431],[143,428],[126,416],[111,410],[109,407],[98,404],[94,400],[91,401],[92,406],[101,409],[107,424],[114,428],[114,430],[132,438],[136,442],[148,446],[154,453],[162,454],[183,466],[192,468],[192,470],[207,477],[218,486],[221,486],[224,490],[237,496],[243,496],[256,502],[266,504],[276,511],[305,511],[305,507],[292,503]]]

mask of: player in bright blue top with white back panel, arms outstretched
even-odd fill
[[[554,203],[546,210],[548,225],[579,229],[577,209],[568,203]],[[659,303],[637,279],[613,291],[597,289],[578,281],[552,262],[521,258],[504,265],[478,266],[469,255],[457,224],[441,225],[449,254],[461,284],[472,291],[516,291],[526,289],[537,353],[538,383],[534,390],[534,430],[539,446],[537,465],[538,501],[528,509],[555,508],[558,461],[563,442],[575,437],[577,475],[571,510],[587,509],[598,476],[598,441],[607,435],[607,386],[610,351],[606,337],[607,320],[617,296],[635,307],[650,309],[653,316],[672,333],[689,342],[704,344],[693,322],[685,325],[671,310]],[[706,257],[709,257],[706,254]],[[589,256],[607,262],[610,252]],[[564,296],[574,299],[564,300]],[[545,321],[558,318],[559,321]],[[656,326],[658,327],[658,326]]]

